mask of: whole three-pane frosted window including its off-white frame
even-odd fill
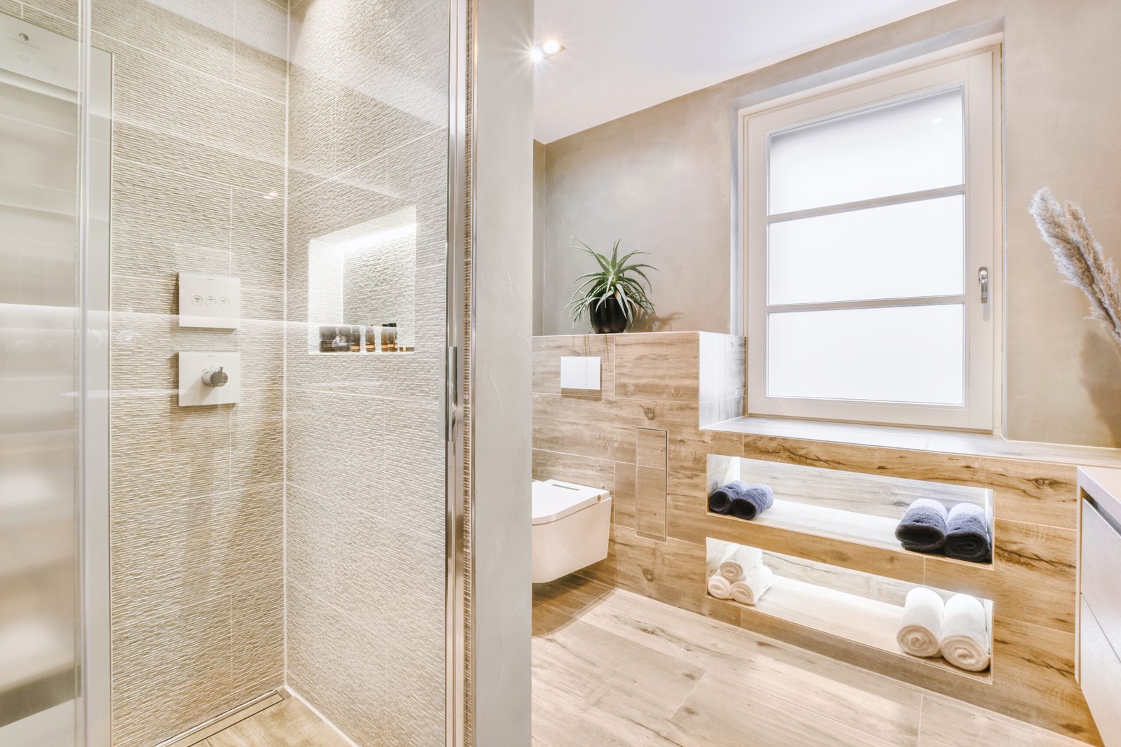
[[[741,113],[752,414],[999,424],[993,69]]]

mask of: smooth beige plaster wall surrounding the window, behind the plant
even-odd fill
[[[970,27],[1003,26],[1007,194],[1007,435],[1017,440],[1121,446],[1121,355],[1059,280],[1027,214],[1049,186],[1086,212],[1121,258],[1121,3],[960,0],[547,143],[539,296],[544,335],[585,332],[565,314],[587,258],[568,248],[651,253],[652,300],[673,329],[728,332],[730,104],[776,86],[824,82],[842,65]],[[851,69],[851,68],[850,68]]]

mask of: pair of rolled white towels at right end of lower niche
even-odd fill
[[[932,589],[911,589],[896,641],[911,656],[941,654],[969,672],[989,669],[989,617],[984,605],[967,594],[955,594],[943,603]]]

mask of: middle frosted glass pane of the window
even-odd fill
[[[964,209],[951,195],[771,223],[768,302],[961,295]]]

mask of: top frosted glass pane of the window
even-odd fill
[[[769,214],[963,183],[962,90],[770,137]]]

